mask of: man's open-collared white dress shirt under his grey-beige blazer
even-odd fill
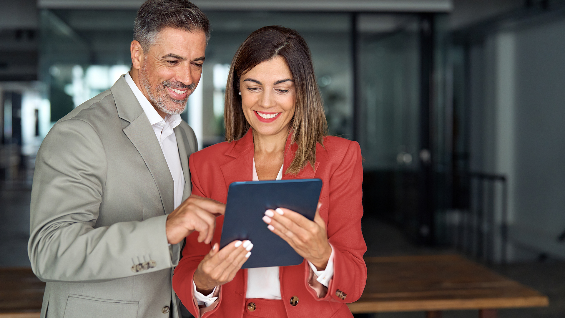
[[[163,119],[137,87],[132,76],[129,75],[129,72],[125,74],[125,81],[128,83],[129,88],[132,89],[132,92],[136,96],[137,101],[140,103],[141,108],[143,108],[147,119],[149,119],[149,123],[151,124],[151,127],[153,127],[155,136],[157,136],[157,141],[159,141],[159,145],[161,146],[161,151],[163,151],[163,156],[169,166],[169,171],[171,172],[171,177],[173,178],[174,183],[176,209],[182,203],[182,192],[184,192],[185,180],[184,174],[182,173],[182,166],[180,164],[179,146],[176,143],[176,136],[173,128],[179,126],[182,119],[180,118],[180,115],[166,115],[165,119]]]

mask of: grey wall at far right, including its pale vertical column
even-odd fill
[[[560,18],[501,28],[470,49],[471,170],[508,178],[514,261],[565,259],[564,39]]]

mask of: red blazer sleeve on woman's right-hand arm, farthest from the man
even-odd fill
[[[363,293],[367,282],[367,266],[363,254],[367,251],[361,232],[363,216],[363,165],[361,149],[355,141],[349,143],[341,164],[329,179],[327,220],[328,242],[334,248],[334,273],[328,293],[319,298],[309,285],[311,268],[306,264],[307,290],[318,300],[352,303]],[[324,207],[322,207],[323,209]]]

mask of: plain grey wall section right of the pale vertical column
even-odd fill
[[[515,233],[565,257],[565,20],[516,31]]]

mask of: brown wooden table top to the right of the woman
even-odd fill
[[[458,255],[366,257],[367,285],[353,313],[479,310],[547,306],[547,296]]]

